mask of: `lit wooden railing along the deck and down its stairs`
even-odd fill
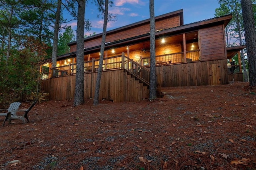
[[[156,56],[156,66],[177,64],[184,62],[184,52],[166,54]],[[199,50],[186,52],[186,62],[193,62],[200,60]],[[139,62],[139,63],[138,63]],[[123,67],[122,67],[123,64]],[[137,78],[149,83],[149,71],[144,66],[150,66],[150,58],[141,58],[139,61],[124,56],[113,56],[103,59],[102,71],[126,69]],[[99,59],[84,62],[84,73],[97,72],[99,68]],[[51,68],[50,77],[68,76],[76,74],[76,64],[68,64],[66,66],[59,66]]]

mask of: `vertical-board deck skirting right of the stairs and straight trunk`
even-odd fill
[[[156,67],[161,87],[228,84],[226,60]]]

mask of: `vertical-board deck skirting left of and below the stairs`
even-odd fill
[[[93,98],[97,73],[84,74],[84,98]],[[42,80],[41,90],[50,100],[74,99],[76,76]],[[102,72],[99,99],[113,102],[139,102],[148,98],[149,90],[124,70]]]

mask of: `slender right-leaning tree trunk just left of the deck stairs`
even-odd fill
[[[98,68],[98,74],[97,74],[95,90],[94,90],[94,99],[93,99],[94,106],[99,104],[100,79],[101,79],[101,74],[102,74],[102,65],[103,65],[103,56],[104,56],[105,41],[106,41],[107,23],[108,23],[108,0],[105,0],[103,33],[102,33],[102,40],[101,40],[101,47],[100,47],[100,61],[99,61],[99,68]]]

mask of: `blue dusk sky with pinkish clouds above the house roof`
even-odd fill
[[[114,4],[109,7],[109,12],[117,14],[116,22],[109,22],[107,30],[113,30],[134,22],[149,18],[149,0],[113,0]],[[214,18],[215,9],[219,7],[218,0],[154,0],[155,16],[183,9],[184,24],[198,22]],[[103,19],[94,4],[87,4],[85,18],[92,22],[86,35],[99,34],[102,32]],[[68,23],[76,34],[76,21]]]

